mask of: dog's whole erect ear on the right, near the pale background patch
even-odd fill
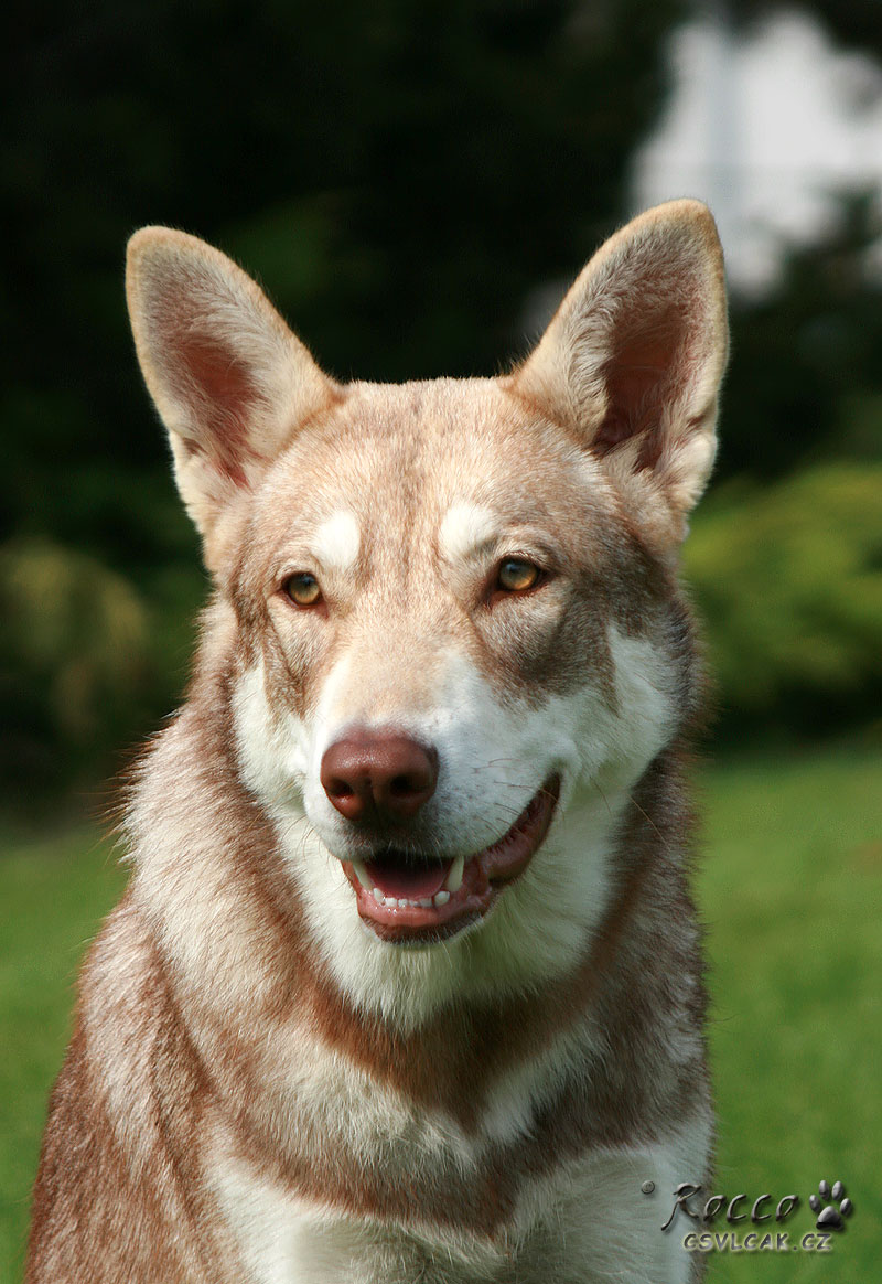
[[[602,457],[668,543],[714,462],[727,347],[714,220],[673,200],[601,247],[508,386]]]

